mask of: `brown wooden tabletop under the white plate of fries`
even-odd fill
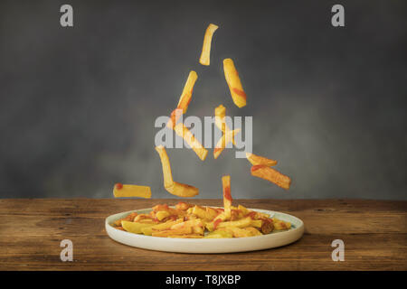
[[[221,206],[222,200],[193,200]],[[407,201],[235,200],[302,219],[303,238],[286,247],[234,254],[178,254],[128,247],[110,239],[113,213],[177,200],[0,200],[0,270],[406,270]],[[73,262],[62,262],[62,239]],[[331,258],[334,239],[345,261]]]

